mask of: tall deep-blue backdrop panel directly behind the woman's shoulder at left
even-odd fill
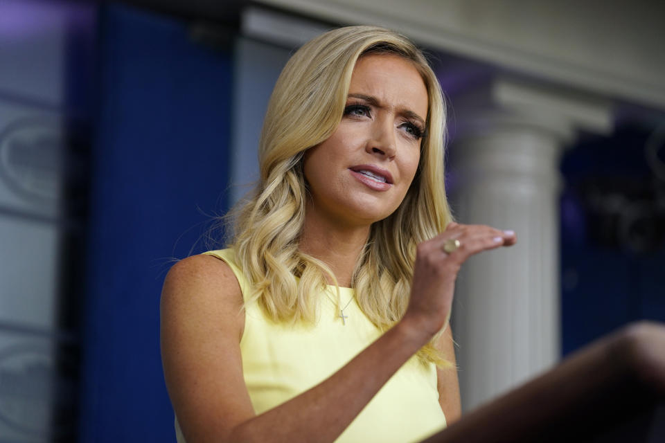
[[[169,257],[201,233],[199,208],[226,204],[232,55],[125,6],[100,8],[99,26],[80,441],[175,441],[159,293]]]

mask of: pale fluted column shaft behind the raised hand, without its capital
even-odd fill
[[[512,229],[518,239],[471,257],[457,280],[452,327],[468,410],[558,360],[560,138],[520,125],[452,149],[456,219]]]

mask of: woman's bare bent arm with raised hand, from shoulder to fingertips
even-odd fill
[[[318,386],[261,415],[254,413],[242,377],[244,313],[235,276],[206,255],[176,264],[162,293],[161,346],[166,385],[188,443],[335,440],[441,329],[461,262],[511,244],[508,238],[500,244],[475,239],[448,255],[441,253],[439,237],[418,246],[411,300],[400,323]]]

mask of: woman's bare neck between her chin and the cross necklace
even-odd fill
[[[308,205],[299,248],[326,263],[340,287],[350,287],[355,264],[367,242],[369,230],[370,225],[344,224]],[[328,281],[328,284],[332,283]]]

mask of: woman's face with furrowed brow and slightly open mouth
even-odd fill
[[[393,213],[418,169],[427,106],[425,82],[411,62],[361,57],[342,121],[305,152],[308,213],[346,225],[369,225]]]

